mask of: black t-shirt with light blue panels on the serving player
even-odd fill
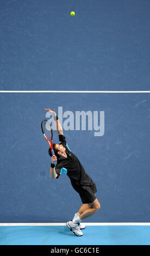
[[[90,185],[93,182],[92,179],[85,172],[77,156],[68,148],[64,135],[59,135],[59,142],[59,144],[62,144],[66,148],[65,153],[67,154],[67,158],[57,161],[57,165],[55,166],[55,172],[58,174],[57,178],[62,173],[65,173],[70,178],[72,186]]]

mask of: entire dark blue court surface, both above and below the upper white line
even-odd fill
[[[149,8],[1,0],[0,90],[149,90]],[[59,106],[105,111],[102,137],[64,131],[97,185],[102,207],[86,222],[149,222],[149,94],[1,93],[0,223],[65,222],[82,204],[67,176],[49,176],[40,122]]]

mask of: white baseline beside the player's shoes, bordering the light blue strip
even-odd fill
[[[104,222],[97,222],[97,223],[84,223],[85,225],[97,225],[97,226],[105,226],[105,225],[150,225],[150,222],[116,222],[116,223],[104,223]],[[0,223],[1,226],[66,226],[66,223]]]

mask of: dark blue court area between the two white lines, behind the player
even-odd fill
[[[65,222],[82,204],[70,180],[49,176],[45,107],[105,111],[105,133],[64,131],[95,181],[101,210],[86,222],[149,221],[149,94],[0,94],[1,222]],[[77,104],[78,102],[78,104]],[[64,118],[66,120],[66,118]],[[58,142],[54,132],[54,142]]]

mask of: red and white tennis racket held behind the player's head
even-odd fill
[[[46,138],[46,140],[51,148],[52,155],[55,155],[54,150],[53,150],[53,143],[52,143],[53,130],[52,130],[51,125],[48,123],[48,121],[46,119],[41,121],[41,129],[42,129],[43,136]]]

